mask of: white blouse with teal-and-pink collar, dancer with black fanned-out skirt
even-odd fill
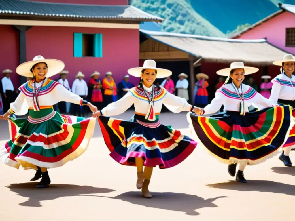
[[[251,105],[258,109],[273,107],[268,99],[264,98],[249,85],[241,84],[240,88],[237,89],[232,84],[225,84],[216,91],[215,98],[204,108],[204,114],[216,113],[222,105],[224,106],[224,110],[240,112],[240,97],[235,90],[238,90],[242,94],[241,89],[244,93],[246,112],[249,112]]]

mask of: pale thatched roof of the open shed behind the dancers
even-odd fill
[[[154,32],[140,29],[150,39],[174,47],[207,62],[242,61],[253,65],[271,65],[288,53],[271,45],[266,39],[242,40],[205,37],[190,34]]]

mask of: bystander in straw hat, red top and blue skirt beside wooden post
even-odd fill
[[[204,107],[208,104],[208,91],[209,86],[207,80],[209,76],[204,73],[196,74],[197,82],[194,90],[194,105]]]

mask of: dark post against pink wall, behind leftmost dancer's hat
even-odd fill
[[[19,64],[27,61],[27,43],[26,43],[26,31],[33,26],[14,25],[19,30]],[[27,82],[27,78],[20,76],[20,85]]]

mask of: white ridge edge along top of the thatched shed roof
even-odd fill
[[[166,36],[166,37],[183,37],[183,38],[196,38],[200,40],[208,41],[220,41],[220,42],[237,42],[237,43],[263,43],[267,42],[266,39],[230,39],[230,38],[220,38],[220,37],[207,37],[194,34],[178,34],[171,32],[157,32],[139,29],[140,32],[148,36]]]

